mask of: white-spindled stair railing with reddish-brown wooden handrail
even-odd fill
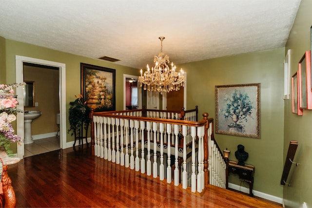
[[[210,184],[225,188],[226,164],[212,140],[213,123],[209,123],[205,131],[205,120],[158,118],[177,116],[175,113],[151,112],[150,116],[157,118],[141,115],[138,112],[94,113],[94,154],[142,174],[153,174],[154,178],[159,177],[169,184],[173,179],[175,186],[179,186],[181,176],[183,189],[190,187],[192,192],[202,192],[206,181],[204,144],[208,144]],[[183,146],[179,146],[180,133],[183,135]],[[175,165],[173,172],[172,158]],[[179,158],[183,159],[181,170]]]

